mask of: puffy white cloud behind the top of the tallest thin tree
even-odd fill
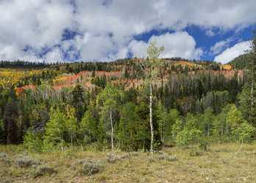
[[[165,50],[160,55],[161,58],[182,57],[185,59],[199,59],[202,55],[202,50],[196,48],[196,41],[185,31],[152,36],[149,42],[152,40],[156,40],[158,46],[164,46]],[[129,44],[129,50],[134,56],[145,58],[147,46],[146,42],[133,40]]]

